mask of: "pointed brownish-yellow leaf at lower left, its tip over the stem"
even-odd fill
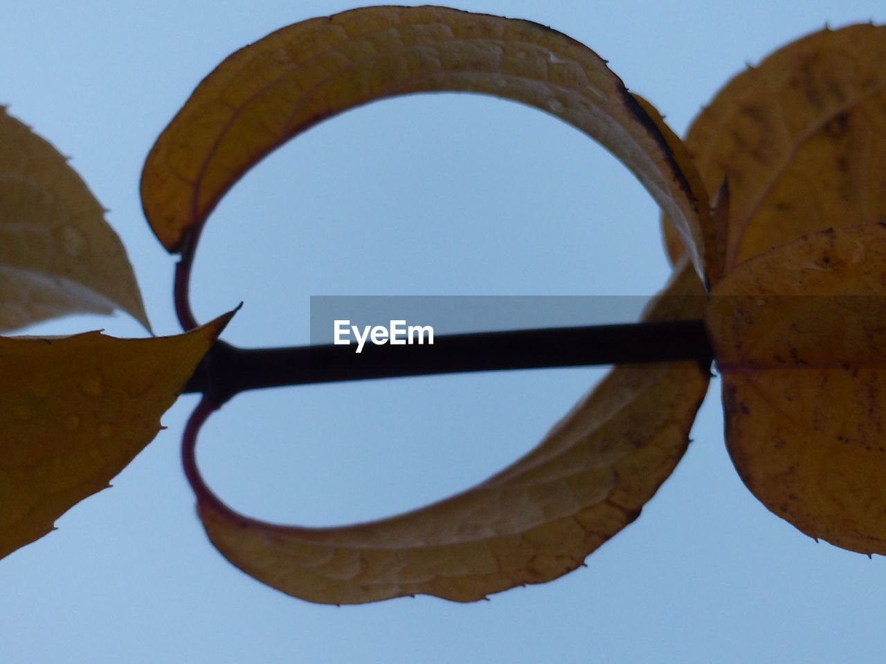
[[[0,558],[43,537],[151,442],[231,315],[149,339],[0,337]]]

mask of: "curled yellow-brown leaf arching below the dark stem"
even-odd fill
[[[644,318],[696,318],[703,293],[684,261],[669,297]],[[326,604],[416,593],[473,601],[564,575],[633,521],[685,452],[707,384],[695,362],[617,367],[535,450],[485,483],[342,528],[277,526],[231,511],[200,478],[193,440],[185,467],[215,546],[280,591]]]

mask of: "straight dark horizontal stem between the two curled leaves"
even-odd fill
[[[185,386],[221,405],[238,392],[317,382],[690,359],[711,364],[701,320],[437,336],[432,345],[243,349],[216,342]]]

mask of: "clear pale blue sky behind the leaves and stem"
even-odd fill
[[[158,334],[179,331],[174,259],[138,179],[159,131],[222,58],[322,0],[13,3],[0,102],[112,212]],[[886,20],[882,0],[464,2],[585,42],[682,134],[746,62],[800,35]],[[311,295],[640,295],[669,270],[657,209],[576,130],[492,97],[370,104],[284,146],[209,220],[199,320],[245,306],[224,338],[304,344]],[[72,317],[36,328],[133,320]],[[203,430],[207,482],[237,510],[332,525],[405,511],[483,480],[536,444],[598,369],[450,375],[241,395]],[[0,377],[2,378],[2,377]],[[315,606],[239,572],[208,543],[178,459],[196,397],[58,530],[0,561],[0,660],[19,662],[812,662],[886,647],[881,557],[815,544],[766,511],[723,444],[719,381],[677,471],[587,567],[472,605],[400,598]]]

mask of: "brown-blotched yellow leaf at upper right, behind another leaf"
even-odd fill
[[[775,51],[719,91],[686,145],[709,193],[729,182],[727,273],[800,235],[886,219],[886,27]]]

